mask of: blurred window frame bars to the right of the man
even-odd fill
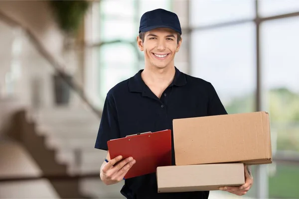
[[[189,3],[189,1],[188,1]],[[288,17],[295,17],[295,16],[299,16],[299,10],[297,12],[290,12],[290,13],[286,13],[286,14],[279,14],[279,15],[273,15],[273,16],[268,16],[268,17],[261,17],[260,14],[260,9],[259,9],[259,1],[255,0],[252,1],[252,3],[254,3],[255,5],[255,17],[253,19],[238,19],[238,20],[232,20],[232,21],[226,21],[226,22],[221,22],[221,23],[215,23],[215,24],[210,24],[210,25],[203,25],[203,26],[196,26],[196,27],[190,27],[190,25],[188,26],[188,28],[184,29],[183,31],[186,32],[186,34],[188,34],[188,38],[191,38],[191,32],[192,31],[203,31],[203,30],[208,30],[208,29],[216,29],[219,27],[228,27],[228,26],[232,26],[232,25],[239,25],[239,24],[244,24],[247,22],[254,22],[255,26],[256,26],[256,32],[255,32],[255,54],[256,54],[256,63],[255,63],[255,70],[256,70],[256,92],[255,92],[255,111],[262,111],[263,110],[263,96],[262,96],[262,78],[263,76],[261,76],[261,71],[262,71],[262,67],[261,66],[261,33],[260,33],[260,27],[261,24],[264,21],[269,21],[269,20],[275,20],[275,19],[283,19],[283,18],[288,18]],[[189,3],[189,10],[190,9],[190,3]],[[190,15],[190,13],[189,13]],[[188,46],[189,49],[188,51],[191,51],[191,45]],[[189,53],[189,57],[190,57],[190,53]],[[191,59],[189,59],[191,60]],[[189,71],[192,70],[192,66],[194,66],[194,64],[190,61],[190,69]],[[192,72],[192,71],[191,71]],[[288,160],[286,160],[286,158],[282,155],[284,154],[283,151],[278,151],[278,153],[276,152],[275,155],[275,161],[277,162],[287,162],[288,163],[296,163],[299,164],[299,155],[295,155],[293,156],[291,154],[291,156],[288,158]],[[255,197],[257,198],[269,198],[269,183],[268,183],[268,170],[267,170],[267,165],[257,165],[254,166],[254,178],[255,178],[255,183],[254,183],[254,187],[256,188],[256,192],[255,192]]]

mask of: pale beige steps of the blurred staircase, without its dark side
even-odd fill
[[[106,152],[94,148],[100,119],[93,112],[82,107],[41,109],[36,122],[46,146],[58,149],[56,161],[68,165],[68,174],[100,171]]]

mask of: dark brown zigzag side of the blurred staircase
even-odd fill
[[[45,146],[46,137],[36,133],[36,124],[27,120],[26,112],[19,110],[13,117],[13,126],[10,136],[20,141],[30,153],[43,175],[65,175],[67,165],[55,161],[55,150]],[[57,180],[49,180],[53,188],[61,198],[89,198],[79,192],[79,181],[63,183]]]

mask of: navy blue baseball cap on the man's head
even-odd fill
[[[139,33],[161,27],[170,28],[182,34],[177,15],[160,8],[148,11],[142,15],[140,19]]]

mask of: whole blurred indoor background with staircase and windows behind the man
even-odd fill
[[[107,92],[144,67],[139,20],[155,8],[180,19],[179,70],[229,113],[270,113],[274,162],[241,198],[299,198],[299,0],[1,0],[0,198],[123,198],[94,144]]]

